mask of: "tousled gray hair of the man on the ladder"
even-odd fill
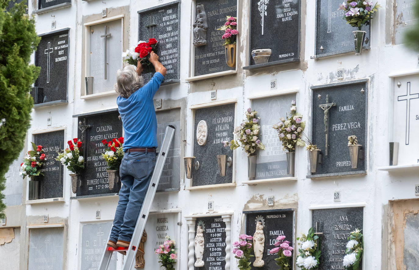
[[[144,85],[142,76],[138,76],[135,67],[127,65],[116,71],[115,92],[121,97],[128,98],[132,93]]]

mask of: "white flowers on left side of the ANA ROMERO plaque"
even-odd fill
[[[301,246],[298,249],[297,266],[302,270],[317,269],[321,254],[320,239],[314,234],[313,228],[308,230],[307,235],[301,234],[301,237],[297,237],[297,240],[300,241],[298,245]]]

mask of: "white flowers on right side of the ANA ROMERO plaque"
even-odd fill
[[[346,244],[346,255],[343,257],[343,266],[348,270],[358,270],[362,259],[362,233],[355,229],[348,237]]]

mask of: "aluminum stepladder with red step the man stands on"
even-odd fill
[[[107,270],[109,262],[111,261],[112,252],[116,251],[127,251],[126,260],[124,262],[123,270],[132,270],[135,265],[135,254],[137,253],[137,247],[140,245],[142,232],[144,231],[145,223],[147,222],[148,214],[150,213],[151,205],[153,204],[154,195],[160,180],[161,172],[163,171],[164,163],[166,162],[166,153],[171,145],[173,134],[175,133],[175,127],[169,125],[166,127],[164,133],[163,142],[158,153],[156,165],[154,167],[153,175],[151,176],[150,185],[148,186],[147,193],[145,194],[144,201],[142,203],[140,215],[135,225],[134,233],[132,234],[131,242],[129,247],[116,249],[112,247],[105,247],[103,257],[98,270]],[[111,269],[114,270],[114,269]]]

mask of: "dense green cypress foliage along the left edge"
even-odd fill
[[[0,217],[5,209],[1,192],[5,173],[23,149],[30,126],[34,102],[29,91],[39,67],[29,62],[41,40],[34,18],[25,14],[26,5],[16,4],[6,12],[7,5],[8,0],[0,0]]]

